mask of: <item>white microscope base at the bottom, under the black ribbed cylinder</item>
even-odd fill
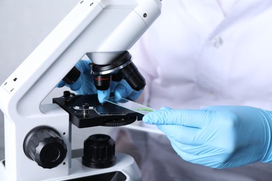
[[[56,180],[126,180],[126,181],[139,181],[142,178],[142,173],[137,166],[135,159],[130,155],[116,152],[116,164],[109,168],[89,168],[82,165],[81,157],[72,159],[69,175],[61,178],[53,178],[44,181]],[[26,166],[27,168],[27,166]],[[43,174],[43,173],[39,173]],[[22,179],[23,180],[23,179]],[[8,175],[5,173],[5,161],[0,162],[0,181],[9,181]]]

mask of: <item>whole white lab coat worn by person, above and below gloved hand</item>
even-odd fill
[[[271,0],[238,0],[226,17],[217,0],[162,3],[162,15],[130,50],[146,78],[146,104],[272,110]],[[119,151],[133,150],[142,180],[271,180],[272,164],[211,169],[184,162],[163,135],[128,129],[118,138]]]

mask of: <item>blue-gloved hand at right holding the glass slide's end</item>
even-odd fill
[[[212,168],[272,163],[272,112],[254,107],[162,108],[146,114],[183,159]]]

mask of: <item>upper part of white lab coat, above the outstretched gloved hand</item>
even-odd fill
[[[272,1],[162,1],[162,14],[130,53],[158,109],[249,105],[272,109]]]

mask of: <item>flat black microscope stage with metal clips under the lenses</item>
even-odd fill
[[[62,97],[54,98],[53,103],[67,111],[70,121],[79,128],[128,125],[144,116],[110,102],[100,104],[98,95],[75,95],[65,91]]]

